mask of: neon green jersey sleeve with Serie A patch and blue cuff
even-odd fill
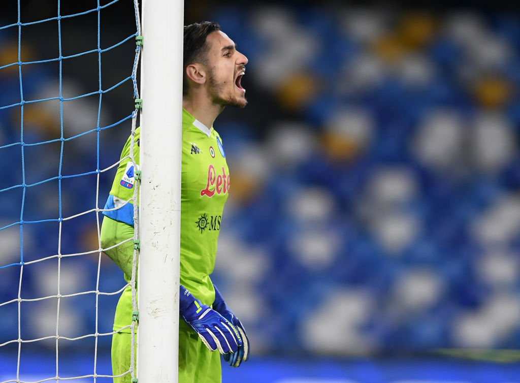
[[[125,146],[121,152],[118,170],[115,173],[112,188],[105,204],[103,214],[109,218],[127,223],[134,226],[134,204],[132,197],[134,196],[134,188],[136,187],[135,172],[139,170],[139,127],[134,135],[134,160],[132,162],[130,156],[130,147],[132,145],[132,136],[128,137]],[[139,200],[139,198],[137,198]]]

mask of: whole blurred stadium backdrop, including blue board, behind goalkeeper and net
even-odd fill
[[[136,30],[132,2],[119,1],[100,10],[99,28],[98,12],[59,29],[57,20],[23,25],[19,49],[17,4],[6,3],[0,266],[15,265],[0,269],[0,303],[18,297],[21,254],[98,248],[95,212],[63,221],[61,233],[57,219],[105,204],[115,171],[100,173],[99,187],[95,171],[119,160],[134,109],[125,79],[135,42],[115,45]],[[97,6],[69,3],[61,15]],[[56,18],[56,1],[22,2],[20,15]],[[249,105],[226,108],[214,125],[231,189],[213,280],[253,352],[249,370],[223,368],[225,379],[518,380],[517,363],[492,362],[520,359],[520,16],[499,3],[186,2],[185,24],[199,20],[219,22],[249,58]],[[19,54],[90,50],[61,65],[9,66]],[[99,89],[110,91],[100,100]],[[87,96],[61,113],[59,100],[24,104],[21,138],[20,100],[60,95]],[[62,145],[61,125],[65,138],[93,131]],[[20,296],[56,295],[57,264],[25,265]],[[124,286],[108,258],[99,270],[97,254],[63,258],[60,293]],[[60,335],[108,333],[117,299],[61,299]],[[18,338],[18,312],[17,301],[0,307],[0,343]],[[56,300],[22,302],[20,331],[55,335]],[[22,346],[28,360],[53,357],[54,339],[37,343]],[[90,359],[94,347],[93,338],[60,342]],[[109,352],[110,337],[97,347]],[[16,371],[17,347],[3,348],[0,366]]]

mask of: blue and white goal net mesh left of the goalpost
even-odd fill
[[[112,378],[110,361],[100,367],[98,355],[110,346],[115,302],[128,285],[102,254],[100,222],[121,139],[129,122],[136,128],[139,5],[79,3],[35,11],[18,0],[16,21],[0,16],[2,383]],[[137,238],[137,212],[135,231]],[[42,349],[54,351],[53,366],[26,362]],[[90,362],[71,370],[76,353]],[[126,374],[135,377],[133,368]]]

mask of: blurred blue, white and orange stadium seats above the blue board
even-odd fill
[[[254,352],[520,348],[520,18],[254,3],[212,8],[208,18],[250,60],[242,82],[250,105],[226,109],[215,125],[231,189],[214,282]],[[0,45],[0,60],[8,49]],[[50,74],[25,75],[34,77],[27,97]],[[19,98],[17,76],[0,71],[2,105]],[[2,142],[19,134],[15,112],[0,110]],[[42,141],[53,116],[38,113],[31,123],[42,126],[28,135]],[[107,134],[106,163],[125,139]],[[77,166],[95,163],[87,144],[74,151]],[[55,152],[41,145],[29,155]],[[2,150],[0,163],[19,182],[18,157]],[[77,185],[63,199],[76,206],[92,190]],[[50,201],[28,199],[26,210],[53,214],[48,192]],[[19,216],[14,198],[0,195],[7,221]],[[95,228],[92,216],[82,220],[63,239],[71,252]],[[55,226],[34,227],[24,251],[53,253],[56,236]],[[17,244],[2,243],[2,262],[16,259]],[[62,279],[62,289],[95,284],[95,262],[74,267],[86,279]],[[17,286],[9,273],[0,270],[0,286]],[[29,271],[22,295],[45,289],[41,278]],[[122,273],[106,262],[100,283],[115,290]],[[7,287],[0,295],[10,299]],[[115,301],[100,304],[100,331],[109,331]],[[94,326],[81,306],[62,303],[63,326]],[[36,313],[45,309],[23,315]],[[2,321],[0,342],[16,331]]]

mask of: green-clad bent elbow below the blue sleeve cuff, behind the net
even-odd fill
[[[107,249],[128,238],[134,237],[134,227],[127,223],[115,221],[108,216],[103,217],[101,225],[101,248]],[[127,279],[132,277],[132,263],[134,258],[134,243],[127,241],[124,244],[104,251],[107,256],[119,266]]]

